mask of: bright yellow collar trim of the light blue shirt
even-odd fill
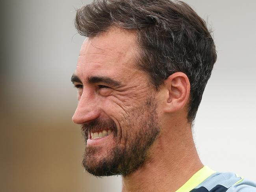
[[[190,179],[182,185],[176,192],[189,192],[202,183],[207,177],[216,173],[211,170],[208,166],[204,166],[198,172],[196,172]]]

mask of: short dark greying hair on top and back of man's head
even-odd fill
[[[174,72],[185,73],[191,84],[187,119],[195,119],[217,54],[206,23],[189,5],[171,0],[94,0],[77,10],[75,26],[86,37],[113,26],[135,30],[137,66],[156,88]]]

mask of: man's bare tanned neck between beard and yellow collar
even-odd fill
[[[161,131],[147,161],[134,173],[122,177],[122,192],[174,192],[203,167],[191,126],[174,127]]]

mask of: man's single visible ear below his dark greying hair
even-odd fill
[[[173,113],[182,109],[189,100],[190,83],[186,74],[176,72],[164,80],[165,90],[168,94],[165,98],[164,111]]]

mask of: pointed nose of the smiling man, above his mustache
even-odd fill
[[[97,105],[98,104],[92,95],[85,94],[85,92],[83,92],[80,100],[78,101],[72,121],[75,124],[83,124],[98,118],[99,110]]]

